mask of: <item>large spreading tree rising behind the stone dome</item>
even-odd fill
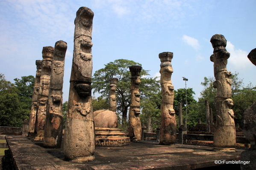
[[[99,69],[94,73],[92,78],[92,88],[94,93],[98,92],[102,98],[109,100],[109,79],[118,78],[116,98],[117,98],[117,112],[122,115],[122,123],[127,120],[127,111],[130,104],[130,84],[131,73],[129,66],[138,65],[134,61],[119,59],[114,62],[105,64],[103,69]],[[148,70],[141,69],[140,79],[141,84],[139,91],[141,93],[141,100],[148,98],[151,93],[156,93],[160,89],[159,81],[156,78],[145,78],[149,75]]]

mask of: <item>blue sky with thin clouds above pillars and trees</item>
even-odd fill
[[[43,46],[68,43],[63,100],[68,101],[74,19],[81,6],[94,12],[93,73],[104,64],[128,59],[160,76],[161,52],[173,52],[174,89],[187,87],[200,97],[204,77],[213,76],[212,35],[222,34],[230,52],[227,69],[244,85],[255,86],[256,66],[247,59],[256,48],[255,0],[1,0],[0,73],[13,81],[35,76]]]

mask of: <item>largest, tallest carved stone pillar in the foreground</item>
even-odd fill
[[[64,155],[73,162],[94,160],[95,133],[91,105],[91,32],[94,13],[81,7],[75,19],[74,52],[65,127]]]

